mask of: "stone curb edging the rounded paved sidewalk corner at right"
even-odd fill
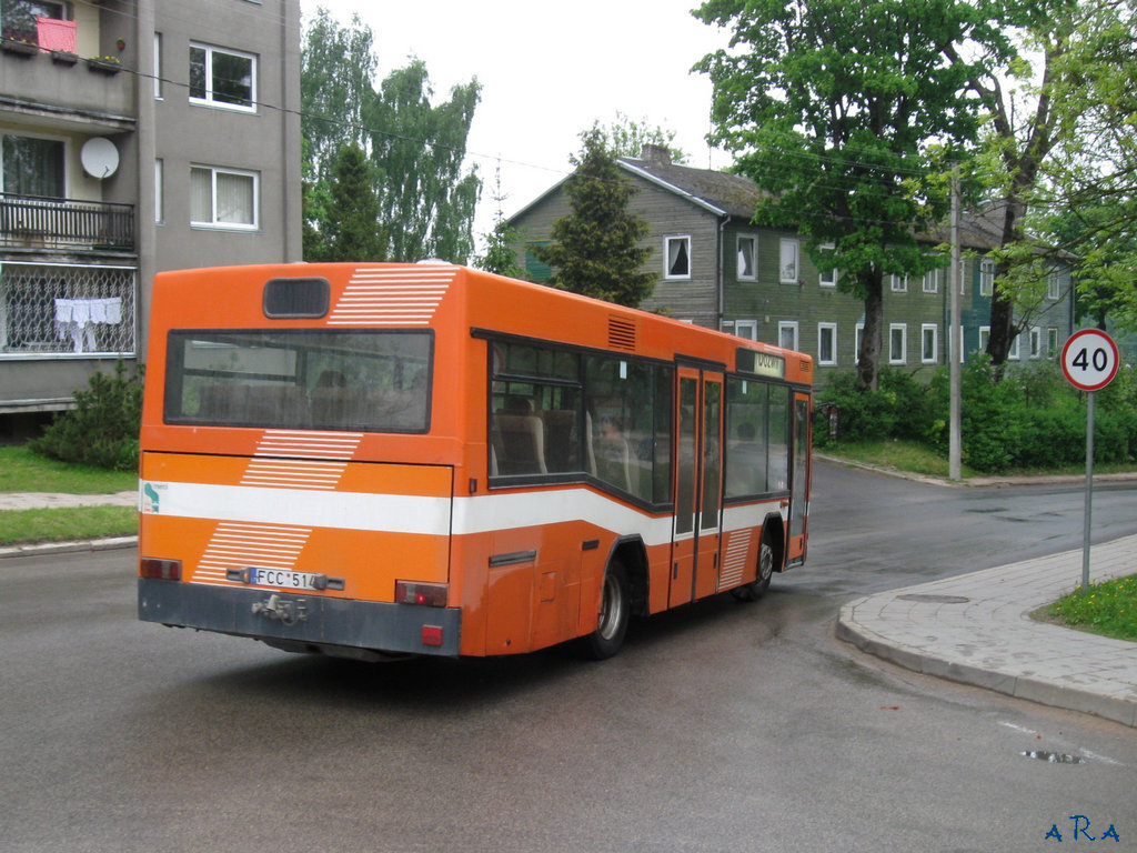
[[[981,687],[1014,698],[1037,702],[1040,705],[1079,711],[1120,722],[1122,726],[1137,728],[1137,702],[1131,699],[1103,696],[1093,690],[1081,690],[1048,679],[971,666],[938,655],[916,652],[902,644],[890,643],[875,631],[856,624],[853,620],[853,612],[857,605],[872,597],[862,596],[841,606],[835,630],[838,639],[856,646],[866,654],[913,672]],[[1030,610],[1023,611],[1022,615],[1026,616]]]

